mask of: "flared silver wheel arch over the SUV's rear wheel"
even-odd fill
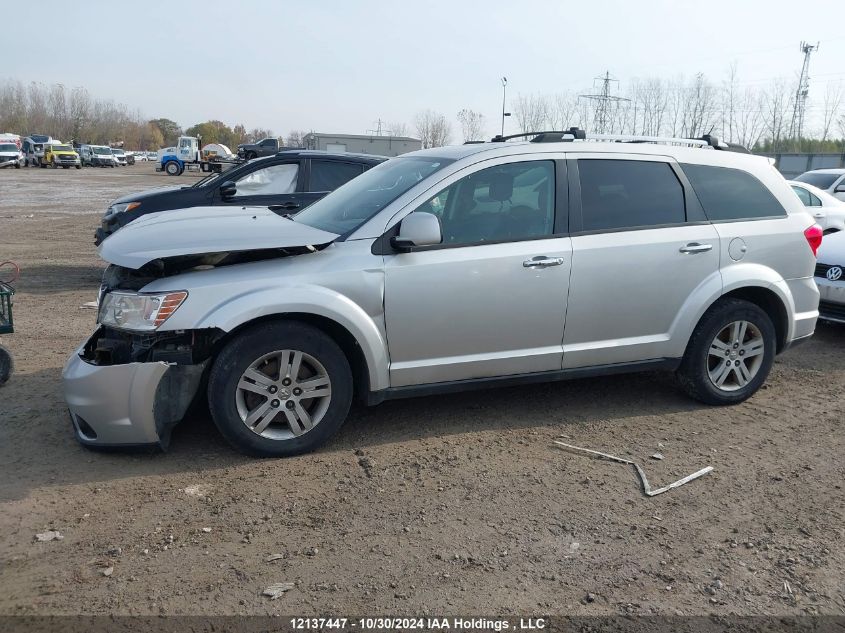
[[[786,340],[791,341],[795,327],[795,301],[789,285],[768,266],[740,262],[714,272],[689,296],[672,323],[670,340],[676,341],[676,344],[668,355],[676,358],[683,356],[695,326],[710,306],[724,295],[742,288],[764,288],[780,299],[786,309]]]

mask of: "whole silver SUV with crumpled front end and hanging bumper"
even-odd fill
[[[355,397],[643,369],[742,402],[813,333],[822,234],[730,149],[573,129],[406,154],[294,217],[145,216],[100,246],[99,324],[64,369],[76,434],[166,446],[207,398],[241,451],[293,455]]]

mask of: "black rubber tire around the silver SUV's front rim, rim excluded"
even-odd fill
[[[241,419],[236,403],[237,385],[244,372],[258,359],[279,350],[310,355],[322,364],[331,381],[330,400],[322,418],[310,430],[287,439],[253,432]],[[346,420],[352,394],[352,371],[337,343],[317,328],[297,321],[262,323],[238,334],[217,355],[208,379],[208,406],[220,433],[236,449],[256,457],[289,457],[322,445]],[[277,416],[282,419],[275,418],[274,424],[284,420],[283,407],[279,412]]]

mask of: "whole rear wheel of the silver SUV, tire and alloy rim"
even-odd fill
[[[737,404],[763,385],[775,358],[775,327],[759,306],[725,299],[712,306],[693,332],[677,377],[688,395],[705,404]]]

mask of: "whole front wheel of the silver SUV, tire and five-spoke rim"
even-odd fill
[[[223,348],[208,381],[220,433],[243,453],[287,457],[314,450],[341,427],[352,372],[329,336],[304,323],[264,323]]]

